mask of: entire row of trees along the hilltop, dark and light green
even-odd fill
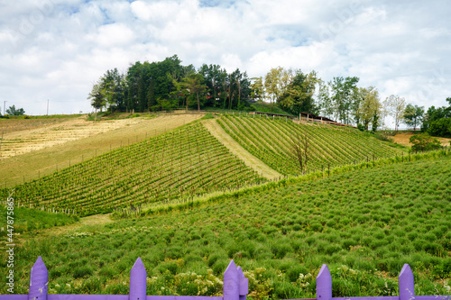
[[[294,115],[322,115],[362,130],[385,127],[385,119],[391,115],[396,131],[405,123],[414,129],[440,132],[440,136],[451,135],[451,128],[446,129],[449,107],[432,106],[425,114],[424,107],[407,104],[399,95],[382,101],[375,86],[358,86],[358,82],[359,77],[333,77],[326,82],[314,70],[304,73],[281,67],[271,68],[264,77],[250,78],[239,68],[227,73],[219,65],[183,66],[174,55],[152,63],[137,61],[124,74],[117,68],[107,70],[88,99],[96,111],[126,112],[206,107],[252,111],[254,102],[270,102],[271,109],[277,105]],[[442,118],[446,120],[438,121]]]

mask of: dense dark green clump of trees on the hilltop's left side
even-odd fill
[[[88,95],[96,110],[155,112],[176,108],[218,107],[244,110],[249,106],[246,72],[227,73],[218,65],[196,69],[182,66],[174,55],[158,62],[137,61],[126,74],[107,70]]]

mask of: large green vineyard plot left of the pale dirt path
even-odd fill
[[[201,123],[134,143],[14,187],[20,205],[78,215],[111,212],[265,179]],[[0,190],[5,199],[9,189]]]

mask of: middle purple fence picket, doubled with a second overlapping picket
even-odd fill
[[[236,268],[232,259],[224,272],[224,300],[245,300],[249,292],[249,281],[244,277],[243,270]]]

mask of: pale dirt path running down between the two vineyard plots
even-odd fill
[[[238,144],[227,132],[216,122],[216,120],[210,119],[202,122],[207,130],[216,137],[223,145],[227,147],[238,159],[242,159],[246,166],[253,168],[262,177],[268,179],[274,179],[282,177],[281,173],[273,170],[265,165],[262,160],[257,159],[247,150],[245,150],[240,144]]]

